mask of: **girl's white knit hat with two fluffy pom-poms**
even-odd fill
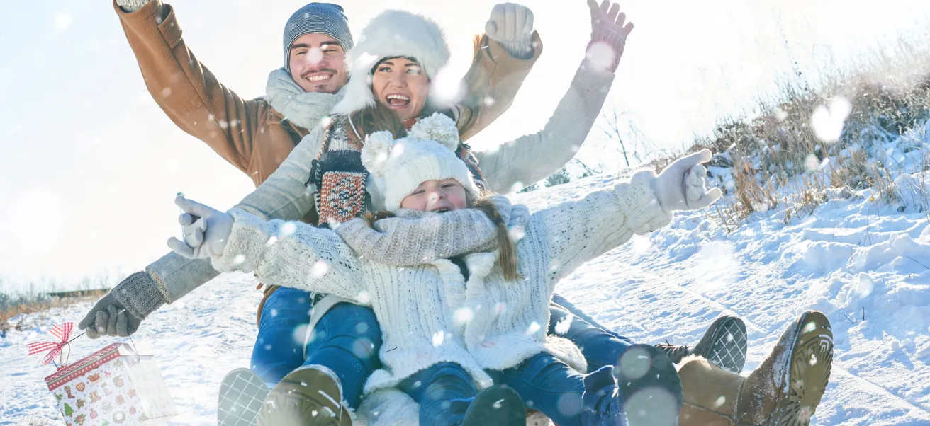
[[[472,199],[480,190],[465,161],[456,156],[458,129],[448,116],[436,112],[413,125],[406,137],[394,140],[391,132],[365,138],[362,163],[384,188],[384,204],[395,211],[419,184],[428,180],[456,179]]]

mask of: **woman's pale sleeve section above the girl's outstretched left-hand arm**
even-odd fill
[[[234,207],[264,220],[299,220],[313,208],[316,187],[307,185],[326,127],[317,126],[304,136],[281,166]]]

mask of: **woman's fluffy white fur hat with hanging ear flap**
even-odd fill
[[[449,46],[443,30],[422,15],[403,10],[385,10],[371,19],[355,47],[346,55],[349,83],[345,97],[333,108],[334,114],[348,114],[375,105],[371,93],[371,69],[383,58],[416,58],[432,78],[449,62]]]

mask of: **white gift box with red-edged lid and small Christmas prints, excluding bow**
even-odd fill
[[[46,377],[68,426],[153,426],[178,414],[151,352],[113,343]]]

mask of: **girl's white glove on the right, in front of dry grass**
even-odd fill
[[[672,162],[652,181],[652,191],[658,205],[666,212],[699,210],[710,206],[723,193],[707,182],[707,168],[701,165],[711,161],[711,151],[699,152]]]

